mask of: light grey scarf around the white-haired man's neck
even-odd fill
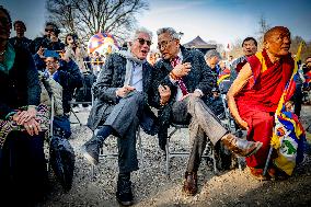
[[[119,51],[116,51],[116,54],[126,58],[126,71],[125,71],[124,85],[129,85],[131,81],[131,73],[133,73],[134,66],[145,64],[146,59],[143,60],[138,59],[129,50],[119,50]]]

